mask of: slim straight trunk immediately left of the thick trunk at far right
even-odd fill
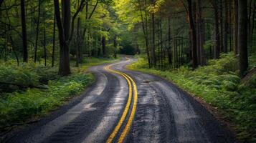
[[[234,0],[234,54],[238,54],[238,0]]]

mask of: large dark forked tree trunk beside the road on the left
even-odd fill
[[[67,76],[70,74],[70,49],[68,47],[66,37],[66,33],[69,33],[69,25],[70,20],[67,20],[70,16],[70,1],[62,0],[62,14],[63,21],[65,21],[65,25],[62,26],[62,20],[60,18],[60,4],[58,0],[54,0],[54,11],[56,16],[57,27],[59,29],[59,41],[60,41],[60,65],[59,65],[59,74],[62,76]],[[67,28],[67,29],[63,29]]]

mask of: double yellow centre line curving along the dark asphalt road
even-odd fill
[[[128,59],[128,58],[126,58],[126,59]],[[130,60],[130,59],[128,59],[128,60]],[[115,65],[115,64],[110,64],[108,66],[105,66],[105,69],[107,71],[113,72],[115,74],[119,74],[120,76],[125,78],[125,80],[128,83],[129,94],[128,94],[128,101],[125,105],[125,109],[123,110],[123,114],[120,117],[118,124],[115,126],[115,129],[108,137],[107,143],[113,142],[113,139],[115,138],[116,134],[118,134],[120,127],[122,126],[122,124],[125,124],[124,123],[125,117],[127,116],[128,112],[129,112],[129,109],[131,107],[132,98],[133,98],[133,107],[131,109],[130,117],[128,117],[128,122],[126,123],[125,128],[123,129],[123,132],[121,132],[120,137],[118,139],[118,143],[121,143],[121,142],[123,142],[123,140],[125,139],[126,135],[128,134],[128,132],[131,128],[131,124],[133,122],[133,118],[136,113],[138,92],[137,92],[137,87],[136,87],[136,83],[134,82],[134,80],[123,72],[110,69],[110,66],[113,66],[113,65]]]

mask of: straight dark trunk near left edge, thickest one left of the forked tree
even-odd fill
[[[27,26],[26,26],[25,0],[21,0],[21,13],[22,13],[23,61],[27,62],[28,51],[27,51]]]

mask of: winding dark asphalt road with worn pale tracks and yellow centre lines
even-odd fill
[[[93,66],[80,97],[5,142],[234,142],[199,102],[160,77],[129,71],[136,59]]]

